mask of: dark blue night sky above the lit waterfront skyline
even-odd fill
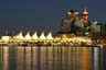
[[[106,0],[0,0],[0,31],[55,32],[67,11],[85,7],[91,20],[106,22]]]

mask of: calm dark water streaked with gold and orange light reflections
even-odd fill
[[[99,48],[0,47],[0,70],[99,70]]]

